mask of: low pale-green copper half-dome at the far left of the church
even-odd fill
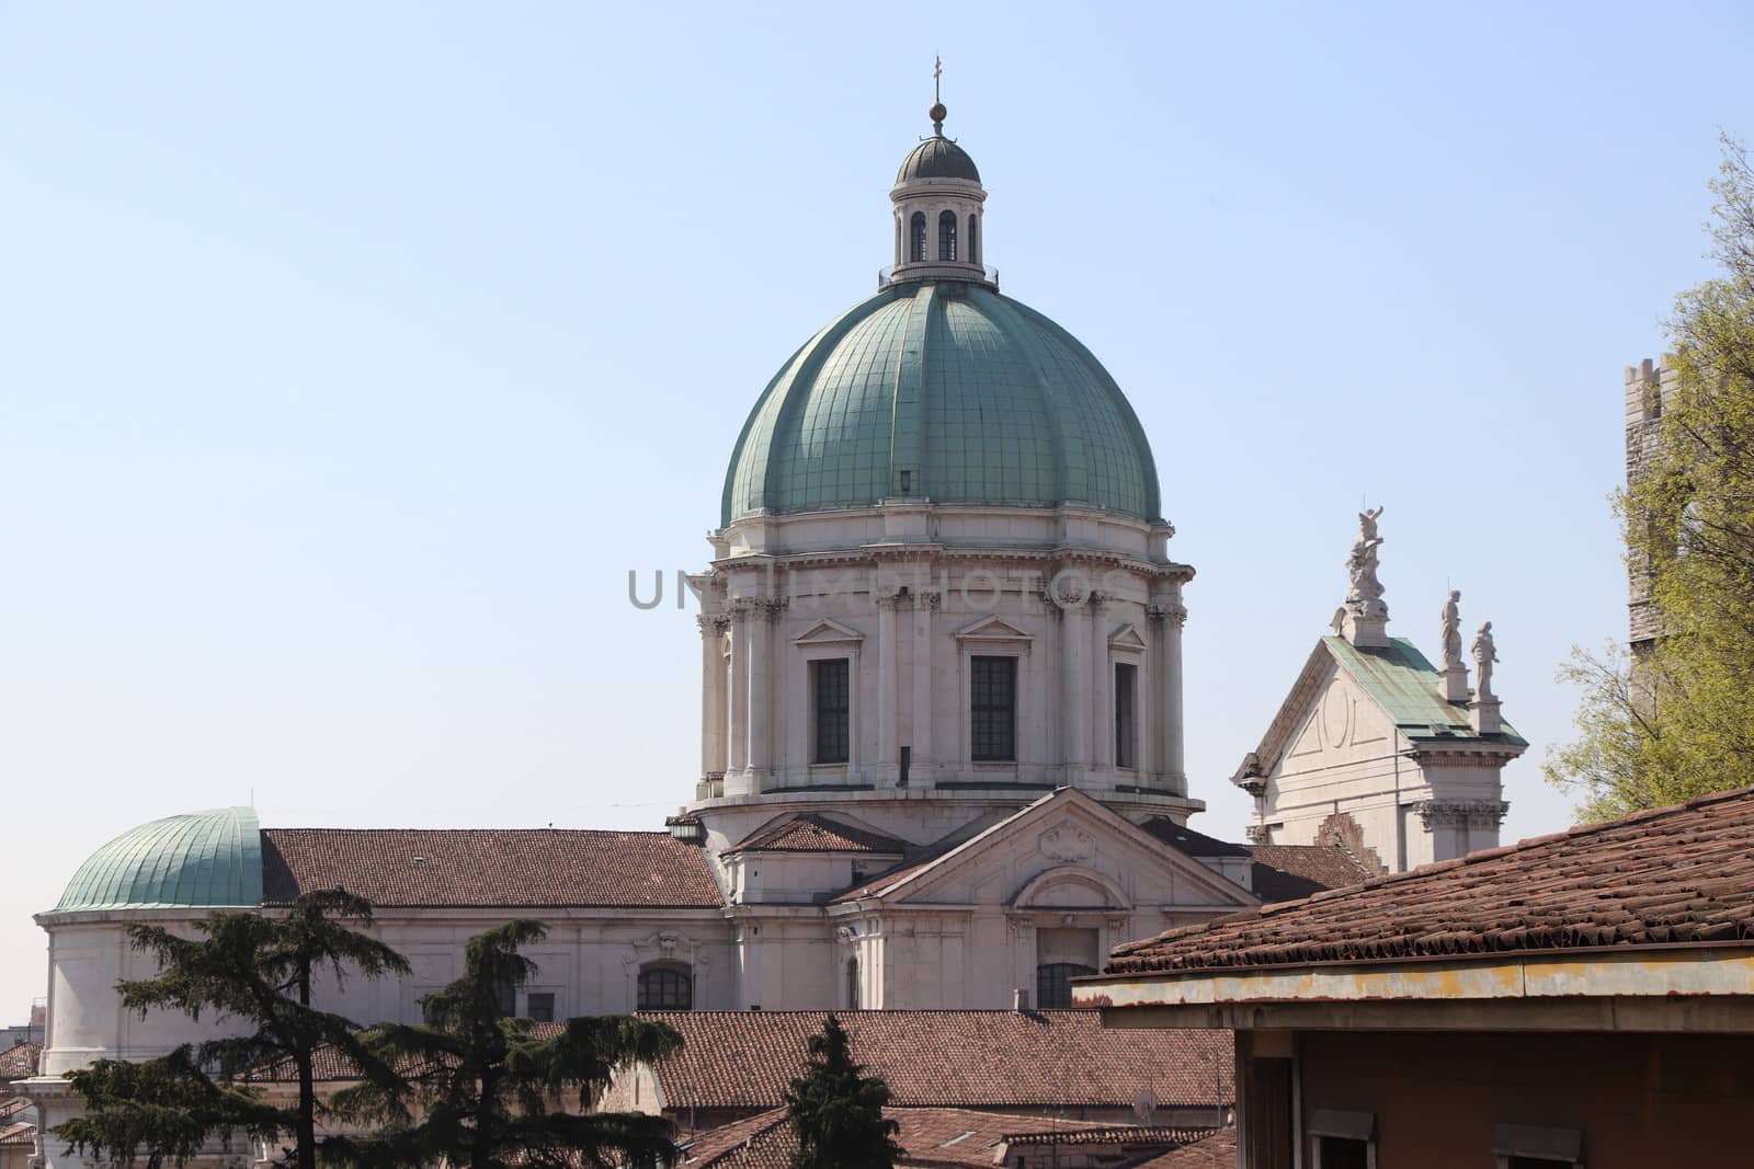
[[[261,824],[256,810],[217,808],[128,829],[79,866],[54,911],[258,904]]]

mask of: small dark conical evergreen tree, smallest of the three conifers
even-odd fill
[[[882,1115],[888,1102],[889,1085],[852,1062],[847,1032],[830,1015],[823,1034],[810,1036],[803,1074],[786,1092],[798,1134],[791,1169],[891,1169],[903,1150],[895,1143],[902,1125]]]

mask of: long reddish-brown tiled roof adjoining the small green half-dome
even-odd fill
[[[261,862],[268,904],[337,885],[381,908],[723,904],[705,854],[668,832],[270,827]]]

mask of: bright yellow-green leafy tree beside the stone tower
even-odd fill
[[[1561,671],[1584,691],[1580,734],[1544,771],[1589,817],[1754,780],[1754,165],[1728,137],[1712,191],[1721,273],[1675,301],[1663,442],[1615,496],[1661,634]]]

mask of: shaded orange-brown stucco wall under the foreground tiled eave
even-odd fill
[[[1754,1164],[1754,1036],[1303,1031],[1294,1050],[1303,1116],[1375,1113],[1384,1167],[1489,1167],[1496,1123],[1582,1129],[1589,1169]]]

